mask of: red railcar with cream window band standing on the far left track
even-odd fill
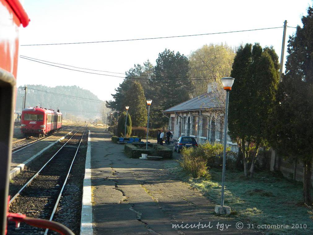
[[[44,108],[29,107],[23,109],[21,132],[24,136],[44,136],[62,127],[62,113]]]

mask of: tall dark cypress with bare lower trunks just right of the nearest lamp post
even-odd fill
[[[275,61],[275,62],[274,62]],[[278,84],[278,56],[273,48],[255,43],[239,47],[231,76],[234,89],[230,93],[229,134],[237,141],[243,155],[244,174],[253,176],[259,147],[267,140],[269,114],[275,102]]]

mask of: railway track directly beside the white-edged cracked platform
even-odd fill
[[[65,143],[62,143],[59,150],[30,179],[26,180],[27,182],[9,202],[11,212],[53,220],[86,129],[87,125],[82,126],[66,142],[64,140]],[[12,193],[12,190],[10,191]],[[48,230],[44,231],[26,224],[16,230],[10,225],[8,234],[46,235]]]

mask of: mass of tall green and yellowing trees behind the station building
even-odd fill
[[[203,45],[189,57],[165,49],[159,53],[155,66],[147,60],[129,69],[106,106],[123,112],[129,105],[132,125],[146,126],[146,99],[151,99],[150,126],[165,126],[168,119],[162,111],[204,94],[212,78],[230,74],[234,56],[235,50],[223,43]]]

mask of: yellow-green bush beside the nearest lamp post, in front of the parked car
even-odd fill
[[[222,144],[209,142],[199,144],[196,148],[183,148],[182,160],[179,164],[192,177],[209,177],[208,166],[218,166],[221,160],[223,163],[223,157],[221,157],[223,149]],[[230,151],[230,147],[227,148],[227,151]]]

